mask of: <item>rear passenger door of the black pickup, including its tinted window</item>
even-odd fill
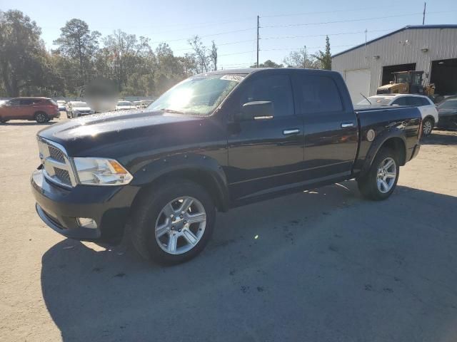
[[[343,79],[332,73],[301,71],[294,74],[293,86],[303,117],[306,179],[324,181],[350,175],[358,146],[358,121]]]

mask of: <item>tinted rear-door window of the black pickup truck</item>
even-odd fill
[[[343,110],[335,81],[327,76],[303,75],[297,79],[298,98],[305,113],[325,113]]]

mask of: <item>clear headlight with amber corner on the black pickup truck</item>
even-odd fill
[[[74,165],[84,185],[126,185],[134,178],[114,159],[76,157]]]

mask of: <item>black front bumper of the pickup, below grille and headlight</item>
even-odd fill
[[[76,185],[71,190],[46,180],[41,170],[31,175],[36,212],[49,227],[71,239],[119,241],[139,188]],[[76,217],[94,219],[97,228],[80,227]]]

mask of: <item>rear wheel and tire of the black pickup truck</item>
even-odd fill
[[[393,161],[393,165],[387,168],[388,172],[381,174],[381,166],[386,167],[388,165],[386,161]],[[395,175],[393,175],[393,172],[395,172]],[[398,175],[400,175],[400,166],[396,153],[390,148],[382,147],[374,158],[370,170],[368,170],[366,175],[358,178],[358,190],[360,190],[363,197],[367,199],[375,201],[387,199],[392,195],[393,190],[395,190],[398,182]],[[386,182],[387,187],[382,184],[383,182],[381,179]]]

